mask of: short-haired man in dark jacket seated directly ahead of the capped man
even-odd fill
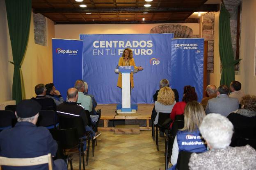
[[[35,86],[36,97],[32,97],[32,100],[39,102],[42,106],[41,110],[54,110],[56,111],[56,104],[52,98],[46,97],[46,88],[44,84],[37,84]]]

